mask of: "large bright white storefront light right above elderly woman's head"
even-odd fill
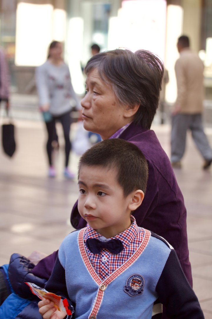
[[[109,20],[108,47],[150,50],[165,58],[166,1],[122,1],[118,18]]]

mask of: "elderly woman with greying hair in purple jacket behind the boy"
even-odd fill
[[[85,74],[87,93],[81,102],[85,129],[100,134],[102,139],[125,139],[143,152],[149,169],[147,190],[133,216],[138,226],[164,237],[174,247],[192,285],[183,196],[170,161],[154,131],[150,130],[159,101],[161,61],[147,51],[133,53],[118,49],[93,56],[85,67]],[[72,210],[71,223],[78,229],[86,224],[79,215],[77,203]],[[23,263],[23,256],[13,254],[8,271],[15,292],[24,298],[31,297],[28,286],[22,284],[24,281],[44,286],[41,283],[44,279],[40,278],[50,277],[56,257],[57,252],[54,252],[33,268],[29,261],[27,266],[26,258]],[[24,275],[21,274],[22,264]],[[38,308],[30,304],[28,308],[23,311],[30,313],[30,318],[34,318],[32,308],[37,315],[35,318],[39,317]]]

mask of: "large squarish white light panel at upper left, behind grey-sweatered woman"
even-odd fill
[[[52,14],[51,4],[17,4],[16,65],[38,66],[45,62],[52,41]]]

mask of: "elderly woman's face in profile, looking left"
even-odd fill
[[[132,121],[126,116],[126,107],[118,104],[111,86],[93,69],[86,79],[87,93],[81,101],[85,130],[98,133],[102,139],[111,137],[122,126]]]

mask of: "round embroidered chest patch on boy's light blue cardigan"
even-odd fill
[[[133,274],[127,278],[126,285],[124,286],[124,291],[128,293],[129,296],[134,297],[141,295],[144,291],[144,278],[139,274]]]

